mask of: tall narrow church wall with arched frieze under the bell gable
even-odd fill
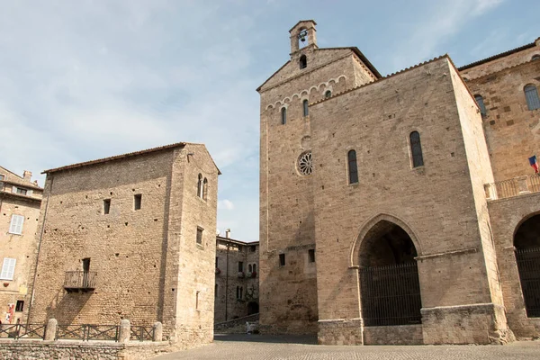
[[[299,31],[301,24],[292,31]],[[308,66],[299,60],[306,55]],[[351,49],[293,52],[290,62],[259,88],[261,94],[260,294],[261,329],[290,333],[317,331],[316,266],[308,261],[315,248],[312,176],[299,175],[297,160],[311,150],[311,115],[302,101],[321,100],[371,81],[374,76]],[[287,123],[281,109],[287,108]],[[279,255],[285,266],[279,266]]]

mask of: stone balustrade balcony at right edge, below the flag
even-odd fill
[[[540,193],[540,175],[524,175],[513,179],[484,184],[488,201],[508,199],[527,193]]]

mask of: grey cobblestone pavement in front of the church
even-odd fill
[[[366,346],[315,345],[315,338],[216,335],[213,344],[157,356],[155,360],[540,360],[540,341],[506,346]]]

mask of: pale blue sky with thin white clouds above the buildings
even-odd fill
[[[519,0],[0,0],[0,165],[43,184],[47,168],[202,142],[223,173],[218,229],[257,240],[255,89],[289,58],[295,23],[387,75],[530,43],[538,14]]]

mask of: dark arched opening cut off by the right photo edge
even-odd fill
[[[527,317],[540,318],[540,214],[518,227],[514,247]]]

